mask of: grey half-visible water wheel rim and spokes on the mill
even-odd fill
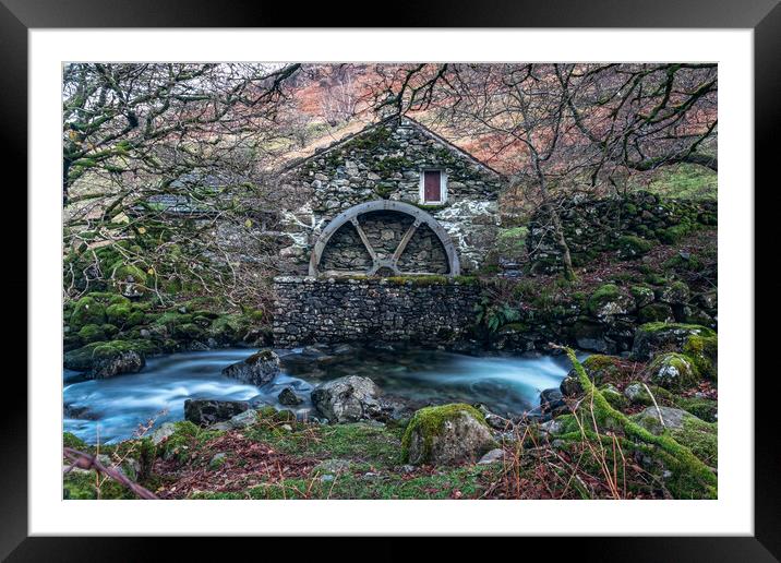
[[[392,212],[399,212],[405,215],[412,217],[411,225],[407,228],[404,236],[401,237],[401,240],[399,241],[398,245],[394,250],[393,254],[389,257],[385,257],[384,254],[377,253],[377,251],[372,245],[371,241],[369,240],[369,237],[367,237],[367,233],[361,226],[359,221],[359,217],[361,215],[364,215],[370,212],[374,211],[392,211]],[[371,259],[371,266],[365,272],[327,272],[328,275],[355,275],[355,274],[365,274],[370,276],[375,275],[383,275],[385,273],[390,273],[393,275],[423,275],[423,274],[430,274],[429,272],[401,272],[399,269],[399,259],[404,254],[405,250],[407,249],[407,245],[409,244],[409,241],[412,239],[414,233],[417,232],[418,228],[421,225],[428,226],[432,232],[440,239],[440,242],[442,243],[442,247],[445,251],[445,254],[447,256],[447,275],[449,276],[456,276],[460,272],[460,266],[458,262],[458,255],[456,254],[455,247],[453,244],[453,241],[450,240],[450,237],[447,235],[447,231],[440,225],[434,217],[429,215],[423,209],[420,209],[419,207],[416,207],[414,205],[410,205],[408,203],[402,202],[395,202],[389,200],[379,200],[373,202],[367,202],[359,205],[356,205],[353,207],[350,207],[349,209],[340,213],[336,217],[334,217],[334,220],[332,220],[325,229],[323,229],[323,232],[321,232],[320,238],[314,244],[314,249],[312,250],[312,255],[310,257],[310,264],[309,264],[309,275],[310,276],[317,276],[321,274],[319,271],[320,261],[323,256],[323,251],[325,250],[326,245],[328,244],[328,241],[336,233],[336,231],[345,224],[350,223],[352,227],[356,229],[356,232],[358,233],[358,237],[360,238],[361,242],[363,243],[363,247],[369,252],[369,256]]]

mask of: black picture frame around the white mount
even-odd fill
[[[746,196],[754,196],[755,225],[770,225],[773,209],[779,208],[777,188],[778,166],[776,143],[772,143],[781,125],[779,93],[781,93],[781,7],[778,0],[656,0],[654,2],[624,0],[545,0],[545,1],[489,1],[464,0],[430,1],[425,4],[410,3],[408,8],[394,4],[382,10],[365,22],[357,21],[368,14],[368,3],[340,5],[332,3],[295,4],[237,0],[230,3],[206,0],[0,0],[0,135],[7,173],[13,169],[22,172],[14,183],[5,183],[3,196],[5,209],[29,212],[26,191],[26,170],[20,163],[27,156],[27,32],[43,27],[666,27],[666,28],[753,28],[755,77],[755,169],[756,188],[744,187]],[[351,21],[353,20],[353,21]],[[620,53],[620,49],[616,50]],[[31,108],[27,108],[28,111]],[[9,166],[12,163],[13,166]],[[766,183],[767,182],[767,183]],[[12,188],[13,185],[13,188]],[[760,188],[761,187],[761,188]],[[729,187],[734,189],[734,187]],[[773,191],[774,189],[774,191]],[[771,200],[769,195],[772,195]],[[15,201],[14,201],[15,200]],[[773,205],[774,204],[774,205]],[[765,216],[762,216],[765,214]],[[9,219],[10,220],[10,219]],[[19,227],[17,227],[19,228]],[[776,237],[777,238],[777,237]],[[770,268],[776,261],[760,260],[774,255],[773,237],[755,235],[755,264]],[[26,248],[17,242],[7,248],[7,260],[16,265],[17,274],[7,277],[7,291],[26,295]],[[776,275],[759,276],[755,272],[755,295],[778,294]],[[17,304],[21,307],[21,300]],[[777,297],[762,303],[759,311],[764,318],[778,318]],[[11,314],[8,312],[7,314]],[[15,319],[25,319],[20,311]],[[756,323],[756,321],[755,321]],[[14,325],[19,338],[26,331]],[[755,328],[757,352],[771,350],[770,338],[778,331]],[[8,333],[7,333],[8,334]],[[22,336],[22,335],[25,336]],[[34,337],[34,335],[31,335]],[[578,560],[597,561],[778,561],[781,558],[781,454],[778,450],[778,367],[768,363],[769,371],[760,370],[757,356],[755,367],[755,535],[753,537],[698,537],[698,538],[525,538],[522,551],[517,556],[531,553],[534,547],[555,553],[556,559],[574,556]],[[11,379],[7,372],[7,380]],[[16,373],[21,373],[17,370]],[[135,561],[151,554],[161,554],[159,547],[149,547],[144,538],[28,538],[27,537],[27,412],[26,385],[15,375],[19,388],[11,391],[7,381],[7,396],[15,397],[12,404],[0,409],[0,498],[2,499],[2,525],[0,525],[0,556],[9,561]],[[566,517],[565,514],[562,517]],[[266,541],[266,540],[264,540]],[[355,540],[353,540],[355,541]],[[375,547],[377,559],[400,559],[406,548],[389,539],[387,547]],[[456,549],[468,550],[458,540],[448,540]],[[453,543],[456,542],[457,543]],[[493,541],[493,540],[492,540]],[[168,542],[168,541],[167,541]],[[531,550],[529,549],[530,543]],[[245,542],[237,544],[243,546]],[[297,543],[293,550],[298,550]],[[485,544],[483,544],[485,546]],[[498,546],[496,548],[495,546]],[[353,544],[353,549],[357,546]],[[202,542],[192,538],[177,541],[175,547],[185,552],[206,554]],[[269,548],[266,548],[269,549]],[[371,556],[365,548],[356,553]],[[486,549],[476,547],[480,552]],[[502,544],[492,544],[503,549]],[[517,550],[518,548],[510,548]],[[197,551],[195,551],[197,550]],[[550,550],[550,551],[549,551]],[[572,552],[572,554],[568,554]],[[484,554],[484,552],[483,552]],[[548,558],[548,555],[545,555]],[[374,558],[373,558],[374,559]]]

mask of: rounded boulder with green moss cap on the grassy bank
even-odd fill
[[[496,447],[483,416],[464,404],[418,410],[405,431],[405,463],[455,465],[474,462]]]

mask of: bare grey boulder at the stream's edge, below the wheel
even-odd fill
[[[312,391],[312,405],[331,422],[355,422],[382,415],[380,388],[369,378],[349,375]]]

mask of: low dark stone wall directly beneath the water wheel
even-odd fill
[[[274,343],[447,345],[474,321],[480,288],[456,280],[278,277]]]

